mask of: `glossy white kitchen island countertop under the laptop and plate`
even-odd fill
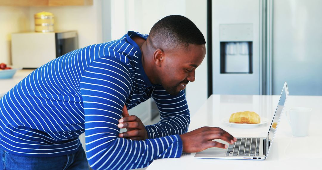
[[[236,137],[260,136],[268,133],[279,96],[212,95],[204,105],[191,115],[188,131],[203,126],[221,127]],[[257,167],[267,170],[317,169],[321,167],[322,148],[317,145],[322,140],[322,96],[289,96],[285,109],[310,107],[312,117],[307,137],[293,137],[290,125],[282,114],[278,130],[266,160],[228,160],[195,158],[195,153],[183,154],[180,158],[157,159],[147,167],[155,169],[250,169]],[[268,123],[252,128],[236,128],[223,122],[234,112],[251,110],[268,118]],[[312,146],[314,147],[312,148]]]

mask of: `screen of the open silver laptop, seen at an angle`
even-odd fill
[[[289,90],[288,90],[287,84],[285,82],[284,86],[283,86],[282,93],[281,93],[281,95],[279,97],[279,103],[277,105],[277,108],[276,108],[276,111],[275,111],[275,114],[274,114],[274,117],[273,117],[273,121],[272,121],[272,123],[270,125],[270,130],[268,131],[268,139],[269,140],[266,140],[266,147],[267,147],[266,156],[268,155],[268,152],[270,150],[270,146],[271,146],[271,143],[273,141],[275,131],[276,131],[277,126],[279,124],[279,119],[280,119],[280,117],[282,115],[284,105],[285,105],[285,102],[286,102],[286,99],[287,99],[288,95],[289,95]]]

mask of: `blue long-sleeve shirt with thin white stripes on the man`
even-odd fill
[[[132,169],[153,160],[180,157],[179,134],[190,122],[185,94],[169,95],[151,84],[141,52],[128,32],[116,41],[90,45],[52,60],[0,99],[0,145],[23,156],[76,152],[85,132],[93,169]],[[146,126],[148,139],[119,138],[118,120],[128,109],[153,97],[161,121]]]

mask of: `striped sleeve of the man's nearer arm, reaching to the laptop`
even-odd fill
[[[86,155],[93,169],[142,168],[158,158],[181,156],[178,135],[141,141],[118,137],[117,124],[131,85],[125,64],[114,58],[97,59],[83,72]]]

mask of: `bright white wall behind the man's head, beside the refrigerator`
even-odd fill
[[[157,21],[174,14],[188,17],[207,37],[206,0],[111,0],[111,39],[119,39],[129,30],[148,34]],[[195,77],[186,88],[191,114],[207,99],[207,57],[196,69]]]

